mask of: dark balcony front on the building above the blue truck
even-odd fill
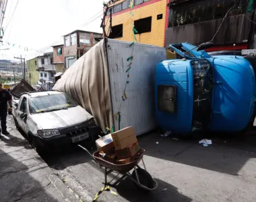
[[[251,15],[235,15],[226,18],[220,31],[214,38],[215,44],[234,44],[247,42],[251,22]],[[189,42],[191,44],[201,44],[212,40],[218,30],[223,18],[209,20],[194,24],[186,24],[166,29],[166,47],[172,43]]]

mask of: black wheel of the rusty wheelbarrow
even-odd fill
[[[142,168],[136,168],[136,170],[137,170],[137,174],[138,174],[138,178],[139,178],[139,183],[144,185],[145,187],[153,189],[155,186],[155,183],[154,183],[152,176],[146,170],[143,170]],[[131,177],[137,181],[135,170],[133,170]],[[139,186],[139,184],[137,184],[137,183],[135,183],[135,184],[139,188],[143,189],[142,187]]]

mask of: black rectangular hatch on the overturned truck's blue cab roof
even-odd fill
[[[158,86],[158,110],[176,112],[176,86]]]

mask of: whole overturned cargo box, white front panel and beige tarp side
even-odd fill
[[[120,112],[120,128],[133,126],[140,135],[156,127],[154,71],[164,59],[165,48],[105,38],[69,67],[53,89],[77,100],[103,131],[112,125],[119,129]]]

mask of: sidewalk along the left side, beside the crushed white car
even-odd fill
[[[79,201],[7,117],[0,140],[0,201]]]

